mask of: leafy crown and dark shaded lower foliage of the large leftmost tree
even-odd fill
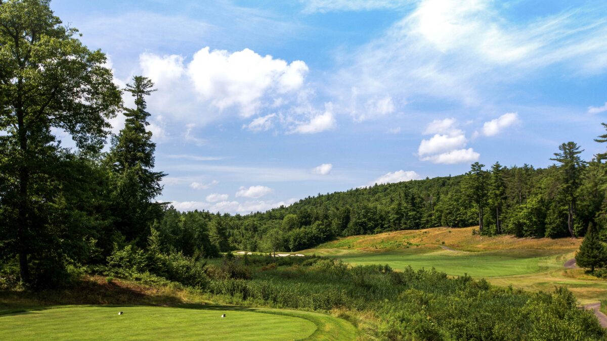
[[[104,226],[98,182],[84,183],[120,91],[106,56],[87,49],[49,1],[0,2],[0,22],[0,257],[19,258],[23,282],[54,285],[86,254],[87,229]],[[52,129],[76,148],[61,147]]]

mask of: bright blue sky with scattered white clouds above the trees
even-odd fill
[[[605,149],[604,1],[51,6],[117,84],[156,83],[159,200],[178,209],[265,211],[474,161],[544,167],[566,141],[588,160]]]

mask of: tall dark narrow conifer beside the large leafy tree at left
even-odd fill
[[[126,109],[126,122],[112,139],[108,155],[114,178],[114,212],[116,226],[128,241],[146,241],[149,225],[161,214],[161,205],[152,202],[162,192],[160,181],[166,175],[154,172],[152,132],[146,130],[150,113],[145,96],[151,95],[154,83],[149,78],[134,76],[126,92],[135,97],[135,109]],[[128,208],[128,209],[124,209]]]

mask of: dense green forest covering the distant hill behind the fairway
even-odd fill
[[[231,216],[169,208],[158,229],[168,242],[197,240],[198,246],[214,243],[221,251],[298,251],[334,237],[438,226],[479,225],[484,235],[558,238],[582,237],[593,224],[605,240],[605,155],[584,161],[581,152],[577,144],[563,143],[551,159],[556,163],[545,169],[500,163],[487,169],[474,163],[464,175],[319,194],[264,213]],[[221,248],[219,237],[226,238]],[[193,254],[195,245],[180,243],[170,245]]]

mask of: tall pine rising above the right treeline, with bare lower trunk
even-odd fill
[[[577,200],[577,189],[580,187],[580,178],[582,177],[582,169],[585,166],[585,161],[580,158],[580,154],[584,151],[580,150],[580,146],[575,142],[563,143],[558,146],[560,153],[554,153],[554,158],[550,160],[560,163],[561,175],[561,192],[565,196],[567,203],[567,226],[571,238],[574,234],[574,217],[575,217],[575,201]]]

